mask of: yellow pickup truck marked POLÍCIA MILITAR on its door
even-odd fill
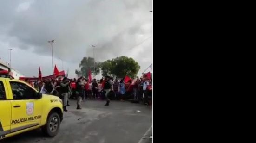
[[[24,81],[0,77],[0,140],[37,128],[53,137],[62,119],[59,97],[41,94]]]

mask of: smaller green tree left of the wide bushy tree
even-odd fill
[[[80,64],[79,64],[79,68],[81,68],[80,70],[76,70],[75,73],[78,76],[85,76],[88,77],[89,75],[89,69],[91,69],[92,73],[94,75],[98,75],[100,72],[100,63],[99,62],[95,62],[95,71],[94,71],[94,58],[92,57],[84,57]]]

